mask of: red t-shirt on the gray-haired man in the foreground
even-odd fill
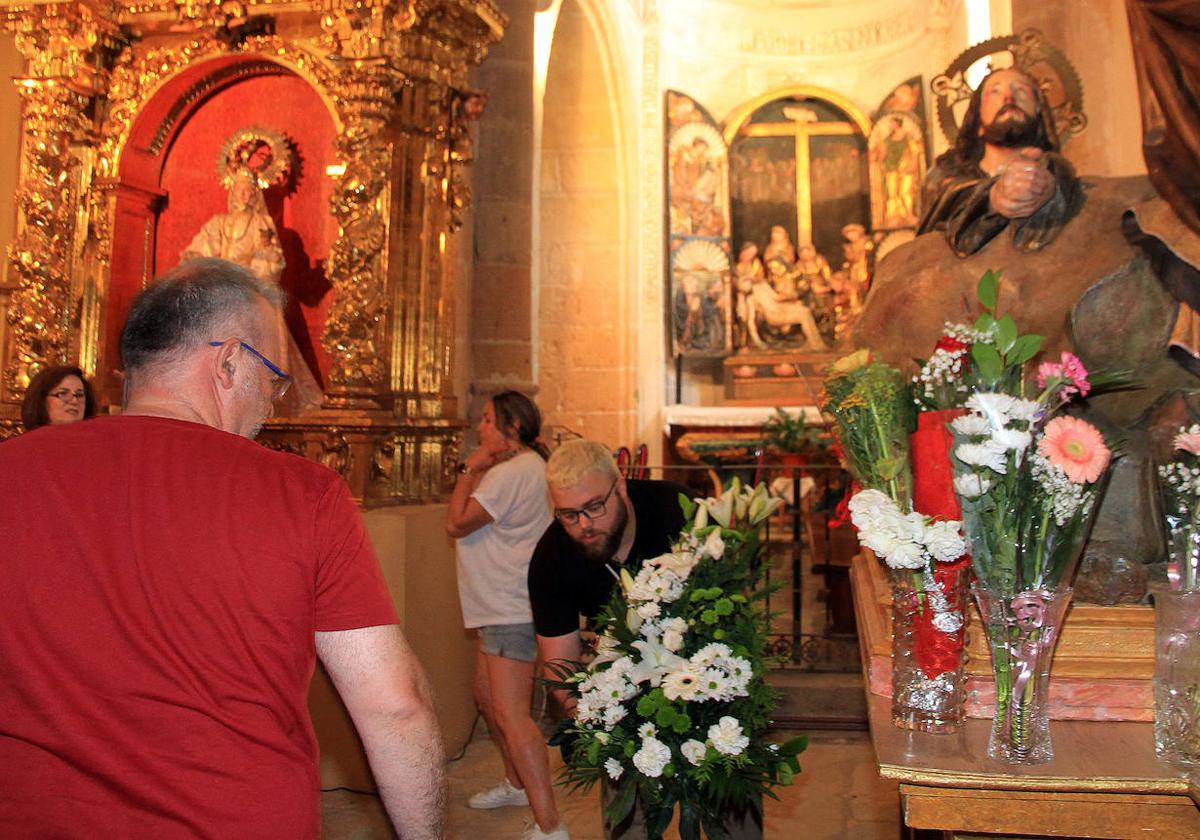
[[[317,838],[313,632],[395,622],[324,467],[158,418],[0,444],[0,836]]]

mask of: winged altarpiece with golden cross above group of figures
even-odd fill
[[[919,218],[920,77],[871,118],[834,91],[796,88],[734,109],[720,134],[698,102],[666,96],[674,353],[835,344],[862,308],[877,250],[911,239]]]

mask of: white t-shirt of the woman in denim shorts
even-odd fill
[[[534,451],[521,452],[487,470],[470,496],[492,521],[458,540],[463,624],[532,622],[526,582],[529,558],[553,520],[546,462]]]

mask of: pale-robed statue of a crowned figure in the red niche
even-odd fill
[[[230,175],[227,184],[227,212],[217,214],[204,223],[192,242],[184,248],[180,262],[197,257],[221,257],[250,269],[260,280],[278,284],[287,263],[275,220],[266,211],[258,178],[251,169],[242,167]],[[288,416],[320,406],[323,394],[295,338],[283,323],[283,312],[280,311],[278,314],[281,329],[288,338],[286,364],[293,385],[280,401],[277,413]]]

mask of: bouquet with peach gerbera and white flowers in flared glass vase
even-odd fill
[[[973,329],[985,337],[970,349],[966,414],[950,422],[954,486],[996,679],[988,755],[1033,764],[1054,755],[1050,661],[1111,462],[1099,430],[1057,413],[1123,374],[1088,377],[1063,353],[1038,367],[1038,392],[1027,398],[1025,366],[1042,337],[1019,335],[1012,317],[996,316],[998,282],[991,271],[979,281],[985,311]]]

